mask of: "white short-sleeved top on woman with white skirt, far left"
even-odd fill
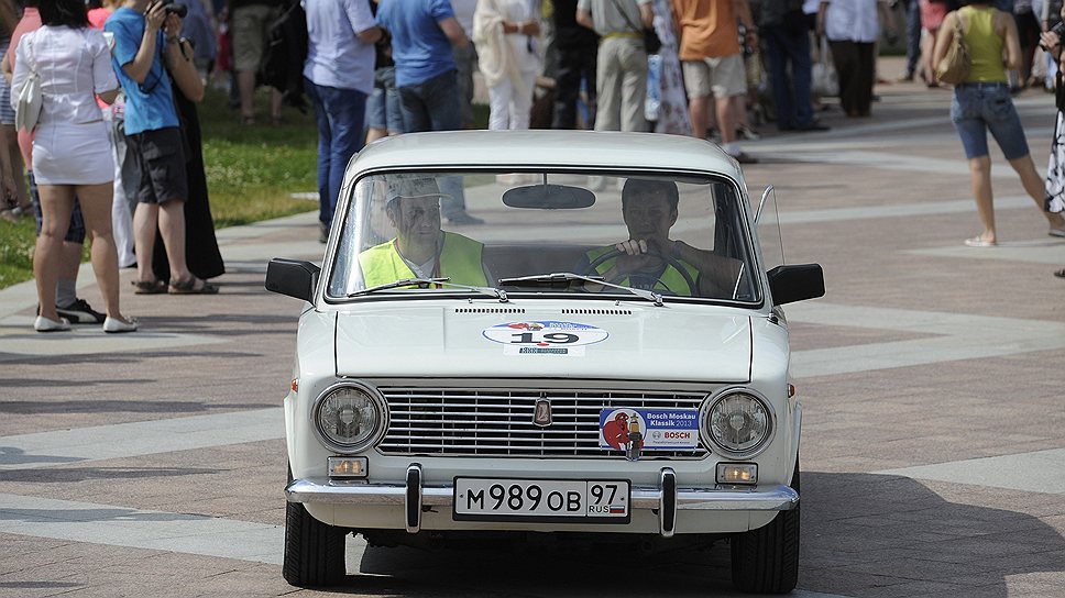
[[[11,79],[11,106],[19,106],[19,91],[32,63],[41,77],[41,115],[37,123],[84,124],[103,118],[94,93],[118,89],[111,70],[111,52],[103,32],[67,26],[41,29],[25,34],[15,49]]]

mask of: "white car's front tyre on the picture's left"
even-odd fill
[[[288,475],[292,480],[292,474]],[[294,586],[333,586],[343,580],[347,530],[318,521],[299,502],[285,507],[282,574]]]

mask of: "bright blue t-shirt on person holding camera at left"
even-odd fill
[[[103,31],[114,34],[114,48],[111,49],[111,66],[125,92],[125,134],[133,135],[144,131],[155,131],[167,126],[178,126],[177,110],[171,92],[171,76],[163,67],[165,34],[160,30],[155,38],[155,59],[138,84],[125,74],[122,65],[136,57],[144,36],[144,15],[122,7],[108,16]]]

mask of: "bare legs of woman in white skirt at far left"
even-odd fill
[[[68,267],[69,248],[64,244],[75,193],[81,203],[85,228],[92,240],[92,272],[103,295],[107,314],[125,321],[119,309],[119,264],[111,236],[112,184],[40,185],[42,228],[33,253],[33,274],[37,285],[41,315],[58,320],[55,286],[59,269]],[[76,264],[77,262],[75,262]]]

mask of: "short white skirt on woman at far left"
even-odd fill
[[[114,157],[105,122],[39,124],[33,132],[33,178],[39,185],[113,181]]]

